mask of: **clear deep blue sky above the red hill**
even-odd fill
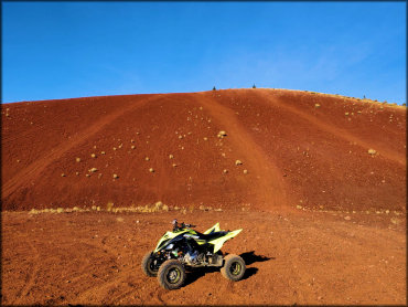
[[[406,103],[406,2],[2,2],[2,103],[257,87]]]

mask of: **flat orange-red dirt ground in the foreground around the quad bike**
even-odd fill
[[[350,216],[351,219],[348,220]],[[142,274],[141,258],[172,219],[244,231],[240,282],[189,272],[178,290]],[[346,218],[346,219],[345,219]],[[245,305],[406,303],[404,215],[345,212],[178,211],[2,213],[2,304]]]

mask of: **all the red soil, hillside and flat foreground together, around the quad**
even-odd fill
[[[1,113],[1,304],[406,303],[405,107],[228,89]],[[159,200],[171,211],[105,211]],[[93,205],[103,211],[26,212]],[[142,256],[174,218],[244,229],[223,251],[244,257],[245,278],[198,269],[167,292],[144,276]]]

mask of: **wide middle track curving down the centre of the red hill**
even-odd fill
[[[197,94],[201,96],[200,99]],[[245,159],[254,167],[254,173],[259,176],[257,184],[259,186],[259,194],[264,198],[266,208],[283,207],[288,203],[284,183],[280,170],[272,165],[262,148],[255,142],[250,134],[243,127],[237,119],[235,113],[216,99],[207,97],[205,93],[196,93],[190,97],[198,105],[203,105],[212,117],[215,118],[221,126],[225,127],[227,138],[235,148],[245,156]],[[250,150],[248,150],[250,149]]]

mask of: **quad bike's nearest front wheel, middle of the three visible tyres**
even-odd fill
[[[158,279],[164,289],[178,289],[185,282],[184,266],[176,260],[165,261],[159,268]]]

